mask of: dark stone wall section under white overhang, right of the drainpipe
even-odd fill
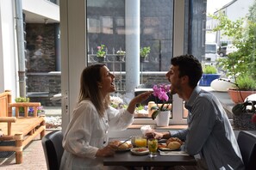
[[[49,72],[55,70],[54,24],[27,24],[28,72]]]

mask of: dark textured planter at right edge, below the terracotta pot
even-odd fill
[[[252,113],[242,112],[233,117],[234,128],[239,130],[256,130],[256,124],[252,122]]]

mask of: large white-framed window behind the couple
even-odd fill
[[[120,93],[125,89],[126,92],[128,91],[129,93],[134,94],[134,88],[140,85],[140,83],[147,84],[147,81],[151,84],[158,83],[159,80],[166,81],[166,83],[168,83],[167,80],[165,80],[165,72],[169,70],[170,61],[173,56],[178,56],[183,53],[195,53],[195,56],[203,58],[203,50],[198,48],[198,46],[203,46],[204,34],[203,31],[200,31],[203,30],[203,12],[198,12],[198,9],[196,8],[200,6],[200,9],[203,9],[203,4],[201,1],[194,1],[194,5],[192,6],[195,7],[193,10],[197,10],[197,12],[195,12],[193,10],[189,10],[189,2],[191,1],[141,0],[139,3],[139,10],[135,10],[138,6],[134,6],[138,3],[137,0],[88,0],[84,1],[84,3],[77,2],[69,5],[64,4],[67,9],[70,9],[68,12],[79,14],[69,15],[71,18],[68,18],[68,20],[69,22],[72,22],[72,24],[62,22],[62,24],[67,24],[69,26],[69,29],[66,30],[68,33],[68,35],[66,35],[66,39],[68,39],[70,45],[66,44],[66,48],[62,48],[64,51],[69,49],[69,51],[66,52],[69,54],[69,57],[67,56],[66,59],[66,64],[69,65],[68,75],[72,75],[70,76],[70,79],[66,78],[66,80],[63,81],[64,84],[68,81],[70,86],[67,87],[64,85],[62,87],[64,92],[68,92],[67,102],[69,102],[68,105],[70,106],[69,112],[72,112],[72,108],[75,105],[78,96],[78,84],[74,83],[78,82],[79,79],[80,72],[78,68],[84,68],[84,66],[82,66],[83,61],[85,65],[97,63],[97,46],[103,44],[107,47],[108,55],[104,62],[107,64],[109,69],[116,74],[116,83],[120,84],[120,88],[118,88],[118,92]],[[128,6],[125,8],[125,5],[129,5],[129,3],[133,7],[132,9],[135,10],[133,13],[129,13],[127,9]],[[150,4],[153,6],[153,15],[146,9],[146,7],[150,8]],[[86,17],[84,21],[83,16],[81,15],[84,10],[83,5],[86,6],[86,12],[84,13],[84,16]],[[138,27],[132,27],[132,29],[130,27],[131,25],[128,25],[128,23],[138,21],[138,18],[131,20],[128,17],[128,15],[134,14],[136,11],[136,15],[140,15],[139,22],[136,22],[140,26],[139,36],[135,35],[138,33]],[[145,13],[143,13],[143,11],[145,11]],[[164,11],[167,11],[167,13],[164,14]],[[159,12],[159,16],[162,18],[158,18],[157,15],[154,14],[156,12]],[[94,15],[94,13],[97,14]],[[63,12],[62,14],[66,13]],[[189,17],[190,15],[191,17]],[[113,27],[111,27],[110,24],[107,26],[108,29],[111,28],[113,30],[110,34],[102,32],[101,18],[105,16],[109,17],[109,21],[113,22],[111,23]],[[200,24],[192,24],[191,26],[191,23],[193,23],[191,21],[192,18],[197,18],[197,20],[199,20],[197,23]],[[161,29],[161,31],[158,31],[158,29]],[[83,32],[83,30],[85,31]],[[125,33],[134,33],[134,37],[131,37],[131,34]],[[67,42],[65,41],[65,32],[62,31],[62,39],[63,37],[64,42]],[[85,39],[82,39],[83,37],[86,37],[86,41]],[[72,46],[72,43],[78,46]],[[130,45],[128,43],[132,43],[133,46],[128,46]],[[81,47],[83,46],[86,46],[86,48],[82,49]],[[150,55],[145,63],[140,63],[139,52],[141,46],[151,47]],[[124,50],[127,52],[125,62],[113,61],[118,50]],[[83,53],[84,58],[81,58],[80,55]],[[65,55],[62,56],[63,58],[66,58]],[[132,66],[134,75],[128,74],[128,71],[131,71],[130,68],[128,68],[129,70],[127,69],[128,66]],[[66,71],[67,70],[63,70],[62,72]],[[123,75],[128,76],[128,81],[123,77]],[[136,77],[135,80],[134,76]],[[149,76],[153,77],[148,79]],[[186,113],[184,112],[183,103],[184,102],[180,100],[177,95],[173,96],[173,115],[171,124],[186,123]],[[151,118],[137,118],[136,121],[137,123],[144,124],[153,123]]]

